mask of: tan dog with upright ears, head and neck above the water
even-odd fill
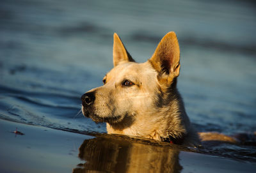
[[[113,39],[114,68],[103,78],[103,86],[81,96],[83,115],[105,122],[109,134],[200,145],[177,89],[180,49],[176,34],[167,33],[145,63],[134,61],[116,33]]]

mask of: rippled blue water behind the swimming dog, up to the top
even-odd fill
[[[251,1],[1,1],[0,118],[106,132],[79,109],[80,96],[113,66],[113,33],[144,62],[175,31],[178,87],[198,131],[256,132],[255,19]],[[216,149],[230,150],[237,148]]]

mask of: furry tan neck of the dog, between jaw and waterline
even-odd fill
[[[182,144],[188,130],[189,119],[179,93],[177,91],[175,93],[176,95],[172,96],[168,104],[163,102],[164,105],[157,105],[148,114],[141,112],[143,116],[137,114],[136,118],[132,118],[132,116],[125,117],[121,123],[107,123],[108,133],[140,136],[164,142],[172,141],[173,144]],[[158,116],[159,114],[166,115],[164,124],[163,116]]]

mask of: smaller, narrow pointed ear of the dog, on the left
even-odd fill
[[[117,66],[121,62],[131,61],[135,62],[134,59],[130,56],[129,52],[124,47],[119,36],[114,33],[114,44],[113,44],[113,64]]]

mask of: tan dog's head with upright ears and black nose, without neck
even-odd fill
[[[174,32],[164,36],[145,63],[136,63],[115,33],[114,68],[103,78],[103,86],[81,97],[84,116],[95,122],[116,124],[125,121],[127,124],[143,118],[141,114],[155,114],[159,107],[167,104],[164,93],[175,87],[179,59],[179,43]]]

